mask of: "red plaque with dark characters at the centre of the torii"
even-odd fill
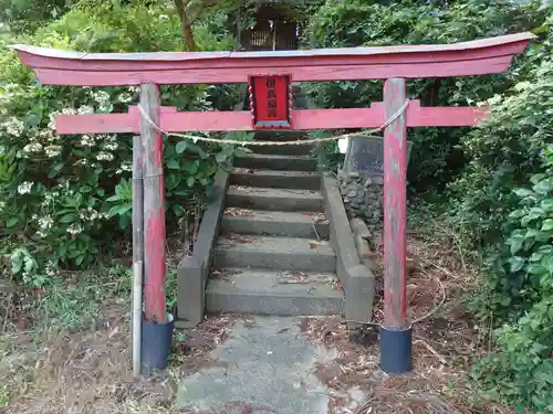
[[[252,126],[280,129],[292,126],[292,82],[290,75],[249,77]]]

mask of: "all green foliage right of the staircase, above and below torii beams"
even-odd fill
[[[492,113],[472,131],[410,131],[408,174],[416,189],[441,198],[442,185],[458,177],[448,185],[448,213],[462,240],[486,256],[483,288],[472,305],[486,325],[500,328],[493,352],[473,370],[478,396],[521,413],[551,413],[553,6],[442,3],[327,1],[311,19],[305,42],[313,47],[432,44],[523,30],[540,36],[507,76],[409,81],[408,96],[422,105],[486,103]],[[366,107],[382,100],[382,82],[316,84],[311,92],[319,107]]]

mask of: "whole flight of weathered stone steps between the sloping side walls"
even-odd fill
[[[257,139],[299,139],[258,134]],[[328,243],[321,176],[307,146],[253,147],[234,161],[206,310],[260,315],[341,315],[344,294]]]

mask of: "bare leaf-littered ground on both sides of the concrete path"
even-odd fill
[[[302,318],[311,338],[335,348],[334,363],[316,375],[334,390],[332,404],[344,406],[346,390],[358,386],[369,399],[347,414],[510,413],[505,407],[470,403],[467,372],[487,351],[484,336],[465,311],[462,297],[476,277],[455,240],[432,243],[409,237],[408,300],[414,325],[415,373],[387,376],[378,368],[376,326],[347,331],[340,318]],[[382,320],[382,246],[374,323]],[[1,270],[1,266],[0,266]],[[10,285],[11,286],[11,285]],[[27,312],[13,287],[0,297],[0,413],[6,414],[185,414],[174,406],[177,382],[202,367],[217,364],[208,353],[228,336],[240,316],[212,316],[196,330],[177,332],[169,369],[149,379],[133,379],[127,298],[106,299],[101,319],[79,329],[45,328]],[[19,297],[18,297],[19,296]],[[9,305],[9,306],[8,306]],[[332,408],[332,407],[331,407]],[[244,411],[244,413],[248,413]],[[309,414],[309,413],[305,413]]]

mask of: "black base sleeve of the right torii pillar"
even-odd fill
[[[380,327],[380,369],[387,374],[413,370],[413,330]]]

